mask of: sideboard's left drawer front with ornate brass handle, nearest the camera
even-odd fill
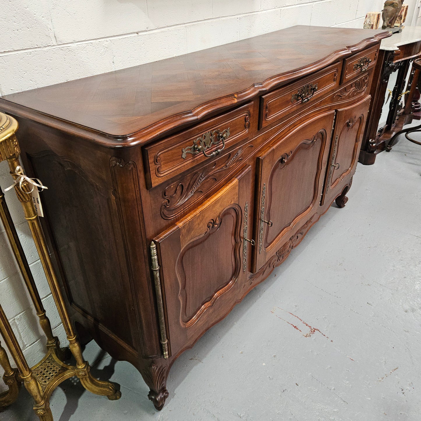
[[[215,155],[216,151],[221,149],[228,149],[255,133],[257,115],[253,115],[252,109],[253,102],[250,102],[171,138],[145,147],[144,154],[149,165],[149,171],[146,170],[148,188],[155,187],[194,165],[212,159],[213,156],[209,155]],[[224,142],[218,139],[218,133],[225,136]],[[213,143],[210,141],[212,136]],[[207,145],[204,151],[198,150],[201,144]]]

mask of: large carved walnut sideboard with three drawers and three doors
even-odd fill
[[[157,409],[181,352],[345,205],[388,35],[296,26],[0,99],[80,335]]]

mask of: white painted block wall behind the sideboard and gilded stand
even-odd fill
[[[411,21],[415,0],[407,2]],[[3,0],[0,94],[135,66],[296,24],[362,27],[382,0]],[[11,182],[0,164],[0,185]],[[55,334],[64,332],[15,193],[6,200]],[[0,302],[30,364],[41,331],[0,226]],[[2,374],[2,373],[0,373]],[[3,385],[0,382],[0,390]]]

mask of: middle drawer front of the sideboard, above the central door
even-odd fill
[[[261,97],[260,128],[280,120],[291,112],[310,104],[339,85],[341,63],[335,63],[320,72],[292,85],[284,86]]]

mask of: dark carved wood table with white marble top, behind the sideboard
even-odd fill
[[[362,140],[360,163],[364,165],[374,164],[376,155],[386,149],[389,140],[400,132],[404,125],[410,124],[413,119],[420,119],[419,109],[414,109],[413,106],[402,106],[402,97],[410,63],[420,55],[421,27],[405,27],[402,32],[382,40],[370,90],[372,104]],[[397,80],[390,98],[386,124],[378,128],[389,76],[396,71]],[[406,91],[410,91],[413,72],[414,70],[411,72]],[[417,101],[417,98],[414,98],[414,100]],[[410,98],[408,102],[408,96],[405,97],[405,102],[409,105],[412,101],[413,98]]]

